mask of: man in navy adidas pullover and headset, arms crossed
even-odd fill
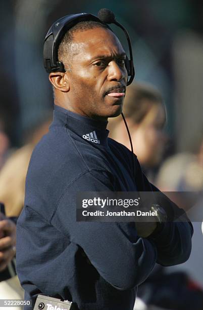
[[[104,21],[82,13],[49,29],[44,64],[55,91],[54,121],[33,151],[17,223],[25,299],[41,293],[80,310],[133,309],[137,285],[156,262],[188,259],[192,227],[173,222],[187,218],[167,198],[164,223],[76,221],[79,191],[158,190],[106,130],[108,117],[122,112],[132,57]]]

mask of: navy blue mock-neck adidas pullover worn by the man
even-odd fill
[[[188,223],[168,223],[140,238],[133,222],[76,222],[78,191],[155,190],[131,152],[98,122],[55,106],[54,121],[35,147],[17,222],[17,272],[25,299],[42,293],[80,310],[132,310],[136,287],[156,262],[185,261]],[[169,207],[170,202],[167,201]],[[171,204],[171,217],[179,212]]]

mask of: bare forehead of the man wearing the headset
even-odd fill
[[[97,27],[74,33],[72,47],[85,59],[98,55],[119,56],[125,53],[117,36],[109,29]]]

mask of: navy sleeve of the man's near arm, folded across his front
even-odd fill
[[[81,247],[97,272],[112,286],[126,290],[143,282],[157,260],[154,242],[137,236],[134,223],[77,222],[78,191],[112,191],[104,171],[89,171],[67,188],[51,223]]]

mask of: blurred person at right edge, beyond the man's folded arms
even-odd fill
[[[196,153],[180,152],[163,162],[157,175],[156,185],[163,191],[172,192],[173,198],[171,197],[171,199],[178,203],[181,208],[188,209],[187,214],[194,228],[190,258],[179,266],[167,267],[167,272],[182,270],[203,288],[203,237],[201,232],[203,218],[203,137],[195,144],[197,145],[195,147]],[[191,208],[191,206],[193,207]]]

